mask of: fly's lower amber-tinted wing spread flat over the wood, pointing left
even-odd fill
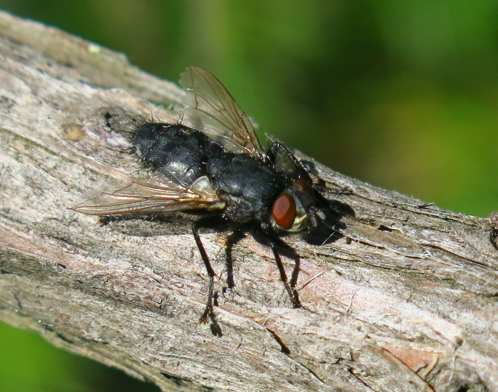
[[[131,185],[112,193],[104,192],[73,210],[88,215],[148,214],[187,210],[218,210],[225,203],[206,176],[185,186],[167,178],[157,183],[134,179]]]

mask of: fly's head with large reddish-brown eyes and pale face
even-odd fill
[[[316,228],[325,214],[322,200],[310,181],[293,180],[273,202],[271,225],[277,231],[302,233]]]

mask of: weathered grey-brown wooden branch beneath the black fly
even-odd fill
[[[207,275],[188,227],[70,210],[139,164],[107,125],[173,120],[181,90],[123,55],[0,14],[0,317],[163,390],[498,390],[498,251],[486,218],[316,165],[344,236],[301,255],[293,309],[271,252],[234,248],[222,337],[197,326]],[[171,106],[170,106],[171,107]],[[178,105],[174,106],[178,108]],[[223,233],[201,234],[220,275]],[[291,260],[284,260],[290,274]],[[306,282],[308,282],[306,284]]]

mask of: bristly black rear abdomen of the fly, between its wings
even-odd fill
[[[206,175],[209,154],[221,150],[203,133],[192,128],[151,122],[137,129],[133,144],[145,164],[187,185]]]

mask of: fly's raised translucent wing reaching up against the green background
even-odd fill
[[[268,160],[246,113],[214,75],[201,68],[187,68],[180,85],[185,89],[186,117],[197,129],[228,151]]]

